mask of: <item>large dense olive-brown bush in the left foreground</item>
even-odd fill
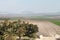
[[[37,32],[37,25],[29,24],[29,22],[8,19],[0,21],[0,40],[21,40],[21,37],[36,38]]]

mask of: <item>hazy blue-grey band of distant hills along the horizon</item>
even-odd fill
[[[26,16],[60,16],[60,12],[57,13],[33,13],[33,12],[22,12],[22,13],[7,13],[0,12],[0,17],[26,17]]]

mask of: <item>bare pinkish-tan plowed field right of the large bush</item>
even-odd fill
[[[55,36],[60,35],[60,26],[55,25],[49,21],[31,21],[29,23],[36,24],[39,27],[38,35]]]

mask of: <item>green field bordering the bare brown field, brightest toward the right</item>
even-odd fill
[[[59,25],[60,26],[60,19],[56,19],[56,18],[50,18],[49,16],[35,16],[35,17],[32,17],[31,19],[33,20],[47,20],[47,21],[50,21],[56,25]]]

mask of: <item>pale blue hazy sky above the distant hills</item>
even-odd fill
[[[0,0],[0,12],[60,12],[60,0]]]

